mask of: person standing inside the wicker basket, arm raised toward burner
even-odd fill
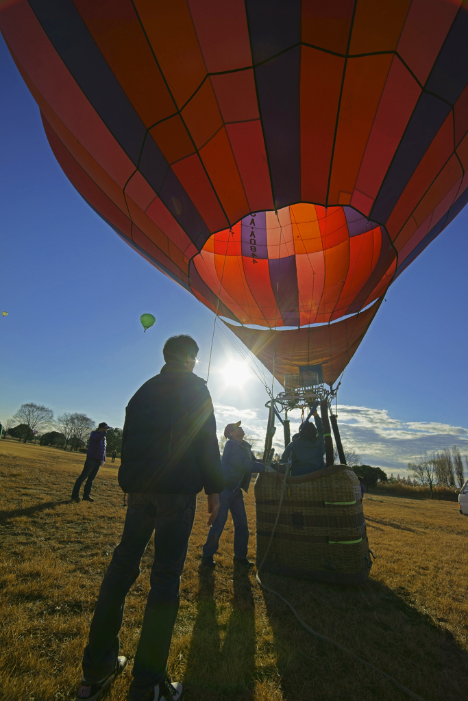
[[[323,440],[323,425],[318,411],[314,411],[314,421],[305,421],[299,428],[293,440],[290,442],[281,456],[279,472],[284,472],[288,461],[291,461],[290,475],[299,477],[316,472],[325,467],[323,454],[325,453],[325,441]]]

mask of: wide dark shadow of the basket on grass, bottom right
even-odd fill
[[[264,573],[307,625],[387,672],[425,701],[464,701],[468,654],[447,630],[393,591],[368,580],[338,587]],[[403,701],[380,674],[317,640],[273,594],[264,592],[284,701]],[[407,599],[407,600],[406,600]]]

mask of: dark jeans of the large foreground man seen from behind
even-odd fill
[[[151,588],[132,669],[130,699],[140,701],[165,678],[195,509],[196,494],[128,494],[122,540],[102,580],[83,655],[86,681],[100,681],[116,666],[126,595],[140,574],[140,560],[153,531]]]

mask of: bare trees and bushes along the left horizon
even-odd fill
[[[64,450],[79,451],[88,447],[89,435],[95,429],[97,423],[93,418],[65,411],[54,420],[53,411],[43,404],[21,404],[18,411],[8,418],[4,424],[4,434],[18,441],[39,440],[39,444],[62,448]],[[120,454],[122,448],[122,429],[112,428],[106,435],[106,453],[111,454],[116,450]]]

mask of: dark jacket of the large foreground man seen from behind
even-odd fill
[[[128,402],[119,484],[126,493],[225,488],[210,393],[182,363],[164,365]]]

